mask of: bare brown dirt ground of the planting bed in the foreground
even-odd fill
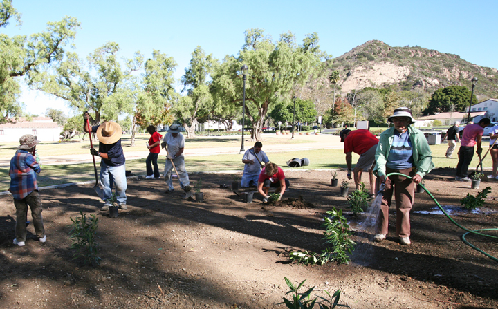
[[[442,205],[458,207],[480,190],[452,174],[436,169],[426,187]],[[435,207],[425,193],[416,195],[411,246],[398,243],[393,211],[386,241],[354,232],[358,246],[349,265],[290,263],[289,250],[323,249],[320,225],[331,207],[344,209],[353,227],[362,216],[352,216],[330,172],[286,176],[291,188],[284,201],[302,196],[313,207],[264,207],[256,194],[243,203],[220,188],[230,185],[228,174],[191,175],[192,184],[202,178],[203,203],[185,200],[179,190],[164,194],[162,180],[130,179],[129,209],[118,218],[99,212],[93,185],[42,190],[47,242],[37,242],[30,225],[25,247],[12,245],[15,208],[11,197],[0,196],[0,308],[284,308],[277,305],[288,291],[284,277],[307,279],[313,295],[340,289],[340,303],[351,308],[498,308],[498,263],[465,245],[463,231],[444,216],[418,213]],[[340,180],[345,176],[340,172]],[[457,222],[498,227],[498,182],[480,189],[488,185],[485,207],[457,212]],[[99,214],[97,268],[71,260],[67,225],[80,209]],[[496,241],[468,239],[498,256]]]

